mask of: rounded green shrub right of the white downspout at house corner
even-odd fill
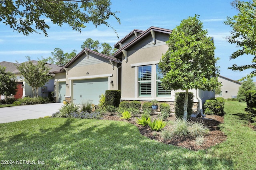
[[[224,98],[212,98],[210,100],[206,100],[204,103],[204,114],[223,116],[225,114],[224,104]]]

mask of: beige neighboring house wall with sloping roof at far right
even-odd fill
[[[236,98],[239,87],[242,85],[241,82],[226,78],[223,76],[218,76],[218,81],[221,82],[221,93],[216,95],[216,97],[222,97],[224,99]]]

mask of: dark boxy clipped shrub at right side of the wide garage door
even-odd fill
[[[106,106],[115,106],[118,107],[121,100],[121,91],[120,90],[106,90],[105,94],[105,104]]]

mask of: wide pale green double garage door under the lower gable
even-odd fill
[[[82,104],[86,101],[98,104],[99,96],[108,90],[108,78],[74,80],[73,85],[73,102],[75,104]]]

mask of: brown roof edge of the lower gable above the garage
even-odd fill
[[[103,57],[105,59],[108,59],[108,60],[111,60],[111,61],[114,61],[116,63],[122,63],[122,61],[119,61],[118,59],[114,58],[114,57],[110,57],[110,56],[107,56],[107,55],[104,55],[104,54],[101,54],[101,53],[98,53],[96,51],[92,51],[90,49],[83,49],[82,51],[80,51],[80,53],[78,53],[72,60],[70,60],[66,65],[64,65],[60,70],[59,72],[54,72],[54,73],[60,73],[60,72],[64,72],[64,68],[68,68],[71,64],[73,64],[78,58],[82,57],[82,55],[86,54],[85,51],[88,51],[90,53],[94,53],[100,57]]]

